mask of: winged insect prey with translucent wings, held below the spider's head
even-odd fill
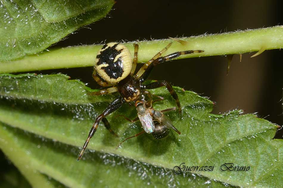
[[[126,140],[130,139],[130,138],[134,138],[137,137],[145,132],[147,133],[151,133],[151,135],[153,135],[153,137],[155,139],[161,139],[161,138],[165,138],[168,134],[169,134],[169,128],[172,128],[173,130],[175,130],[179,135],[181,134],[181,132],[174,127],[174,125],[172,124],[171,120],[164,115],[163,112],[168,112],[168,111],[172,111],[172,110],[176,110],[176,107],[174,108],[167,108],[165,110],[155,110],[152,107],[153,102],[156,101],[150,101],[150,106],[148,107],[148,103],[145,101],[144,99],[144,95],[141,96],[141,100],[140,101],[136,101],[135,106],[138,112],[138,117],[131,120],[127,117],[125,117],[124,115],[118,115],[118,116],[122,116],[124,117],[127,121],[130,122],[135,122],[140,120],[141,121],[141,125],[143,127],[143,131],[137,133],[134,136],[131,136],[129,138],[126,138],[125,140],[123,140],[117,147],[116,149],[118,149],[118,147],[125,142]],[[158,99],[160,100],[160,99]],[[161,99],[162,100],[162,99]],[[155,122],[153,122],[155,121]]]

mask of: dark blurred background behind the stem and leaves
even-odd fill
[[[117,1],[107,18],[81,28],[52,48],[100,42],[164,39],[176,36],[223,33],[282,24],[282,1]],[[254,52],[255,53],[255,52]],[[282,52],[268,50],[250,58],[211,56],[175,60],[158,65],[150,79],[167,80],[217,102],[213,113],[243,109],[278,125],[282,116]],[[92,68],[58,69],[39,73],[68,74],[100,88]],[[37,72],[38,73],[38,72]],[[280,131],[282,132],[282,131]],[[277,134],[276,138],[282,138]]]

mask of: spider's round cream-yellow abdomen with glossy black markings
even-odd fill
[[[97,53],[94,68],[100,77],[110,83],[118,83],[130,74],[132,56],[127,47],[111,42]]]

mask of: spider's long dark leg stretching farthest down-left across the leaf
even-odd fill
[[[77,158],[77,160],[79,161],[82,157],[83,157],[83,152],[85,151],[85,148],[88,146],[89,140],[93,137],[94,133],[97,130],[97,127],[99,125],[99,122],[108,114],[114,112],[115,110],[117,110],[118,108],[120,108],[122,106],[122,98],[119,97],[118,99],[113,100],[108,107],[106,107],[106,109],[102,112],[102,114],[100,114],[99,116],[97,116],[97,118],[95,119],[89,133],[88,133],[88,138],[85,140],[85,144],[83,145],[83,148]]]

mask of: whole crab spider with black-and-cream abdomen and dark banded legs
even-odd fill
[[[171,45],[172,42],[170,42],[165,48],[163,48],[160,52],[153,56],[152,59],[147,61],[136,74],[134,74],[134,72],[136,70],[138,60],[139,45],[134,44],[133,61],[130,51],[122,44],[111,42],[102,46],[102,48],[97,53],[96,59],[94,61],[94,72],[92,74],[92,77],[101,86],[113,87],[93,92],[91,93],[91,95],[109,94],[117,91],[120,95],[117,99],[114,99],[108,105],[108,107],[106,107],[106,109],[95,119],[94,124],[92,125],[88,133],[88,138],[86,139],[77,160],[80,160],[82,158],[83,152],[85,151],[89,140],[96,132],[99,122],[104,122],[105,127],[115,135],[115,133],[111,130],[105,116],[113,113],[125,102],[134,104],[136,101],[141,99],[142,94],[150,97],[151,94],[146,89],[154,89],[166,86],[171,96],[177,103],[179,113],[181,113],[181,105],[178,99],[178,95],[176,94],[170,83],[168,83],[167,81],[156,81],[147,85],[143,84],[144,80],[147,79],[155,65],[176,58],[180,55],[203,52],[203,50],[188,50],[171,53],[167,56],[161,57],[162,53],[170,48]]]

